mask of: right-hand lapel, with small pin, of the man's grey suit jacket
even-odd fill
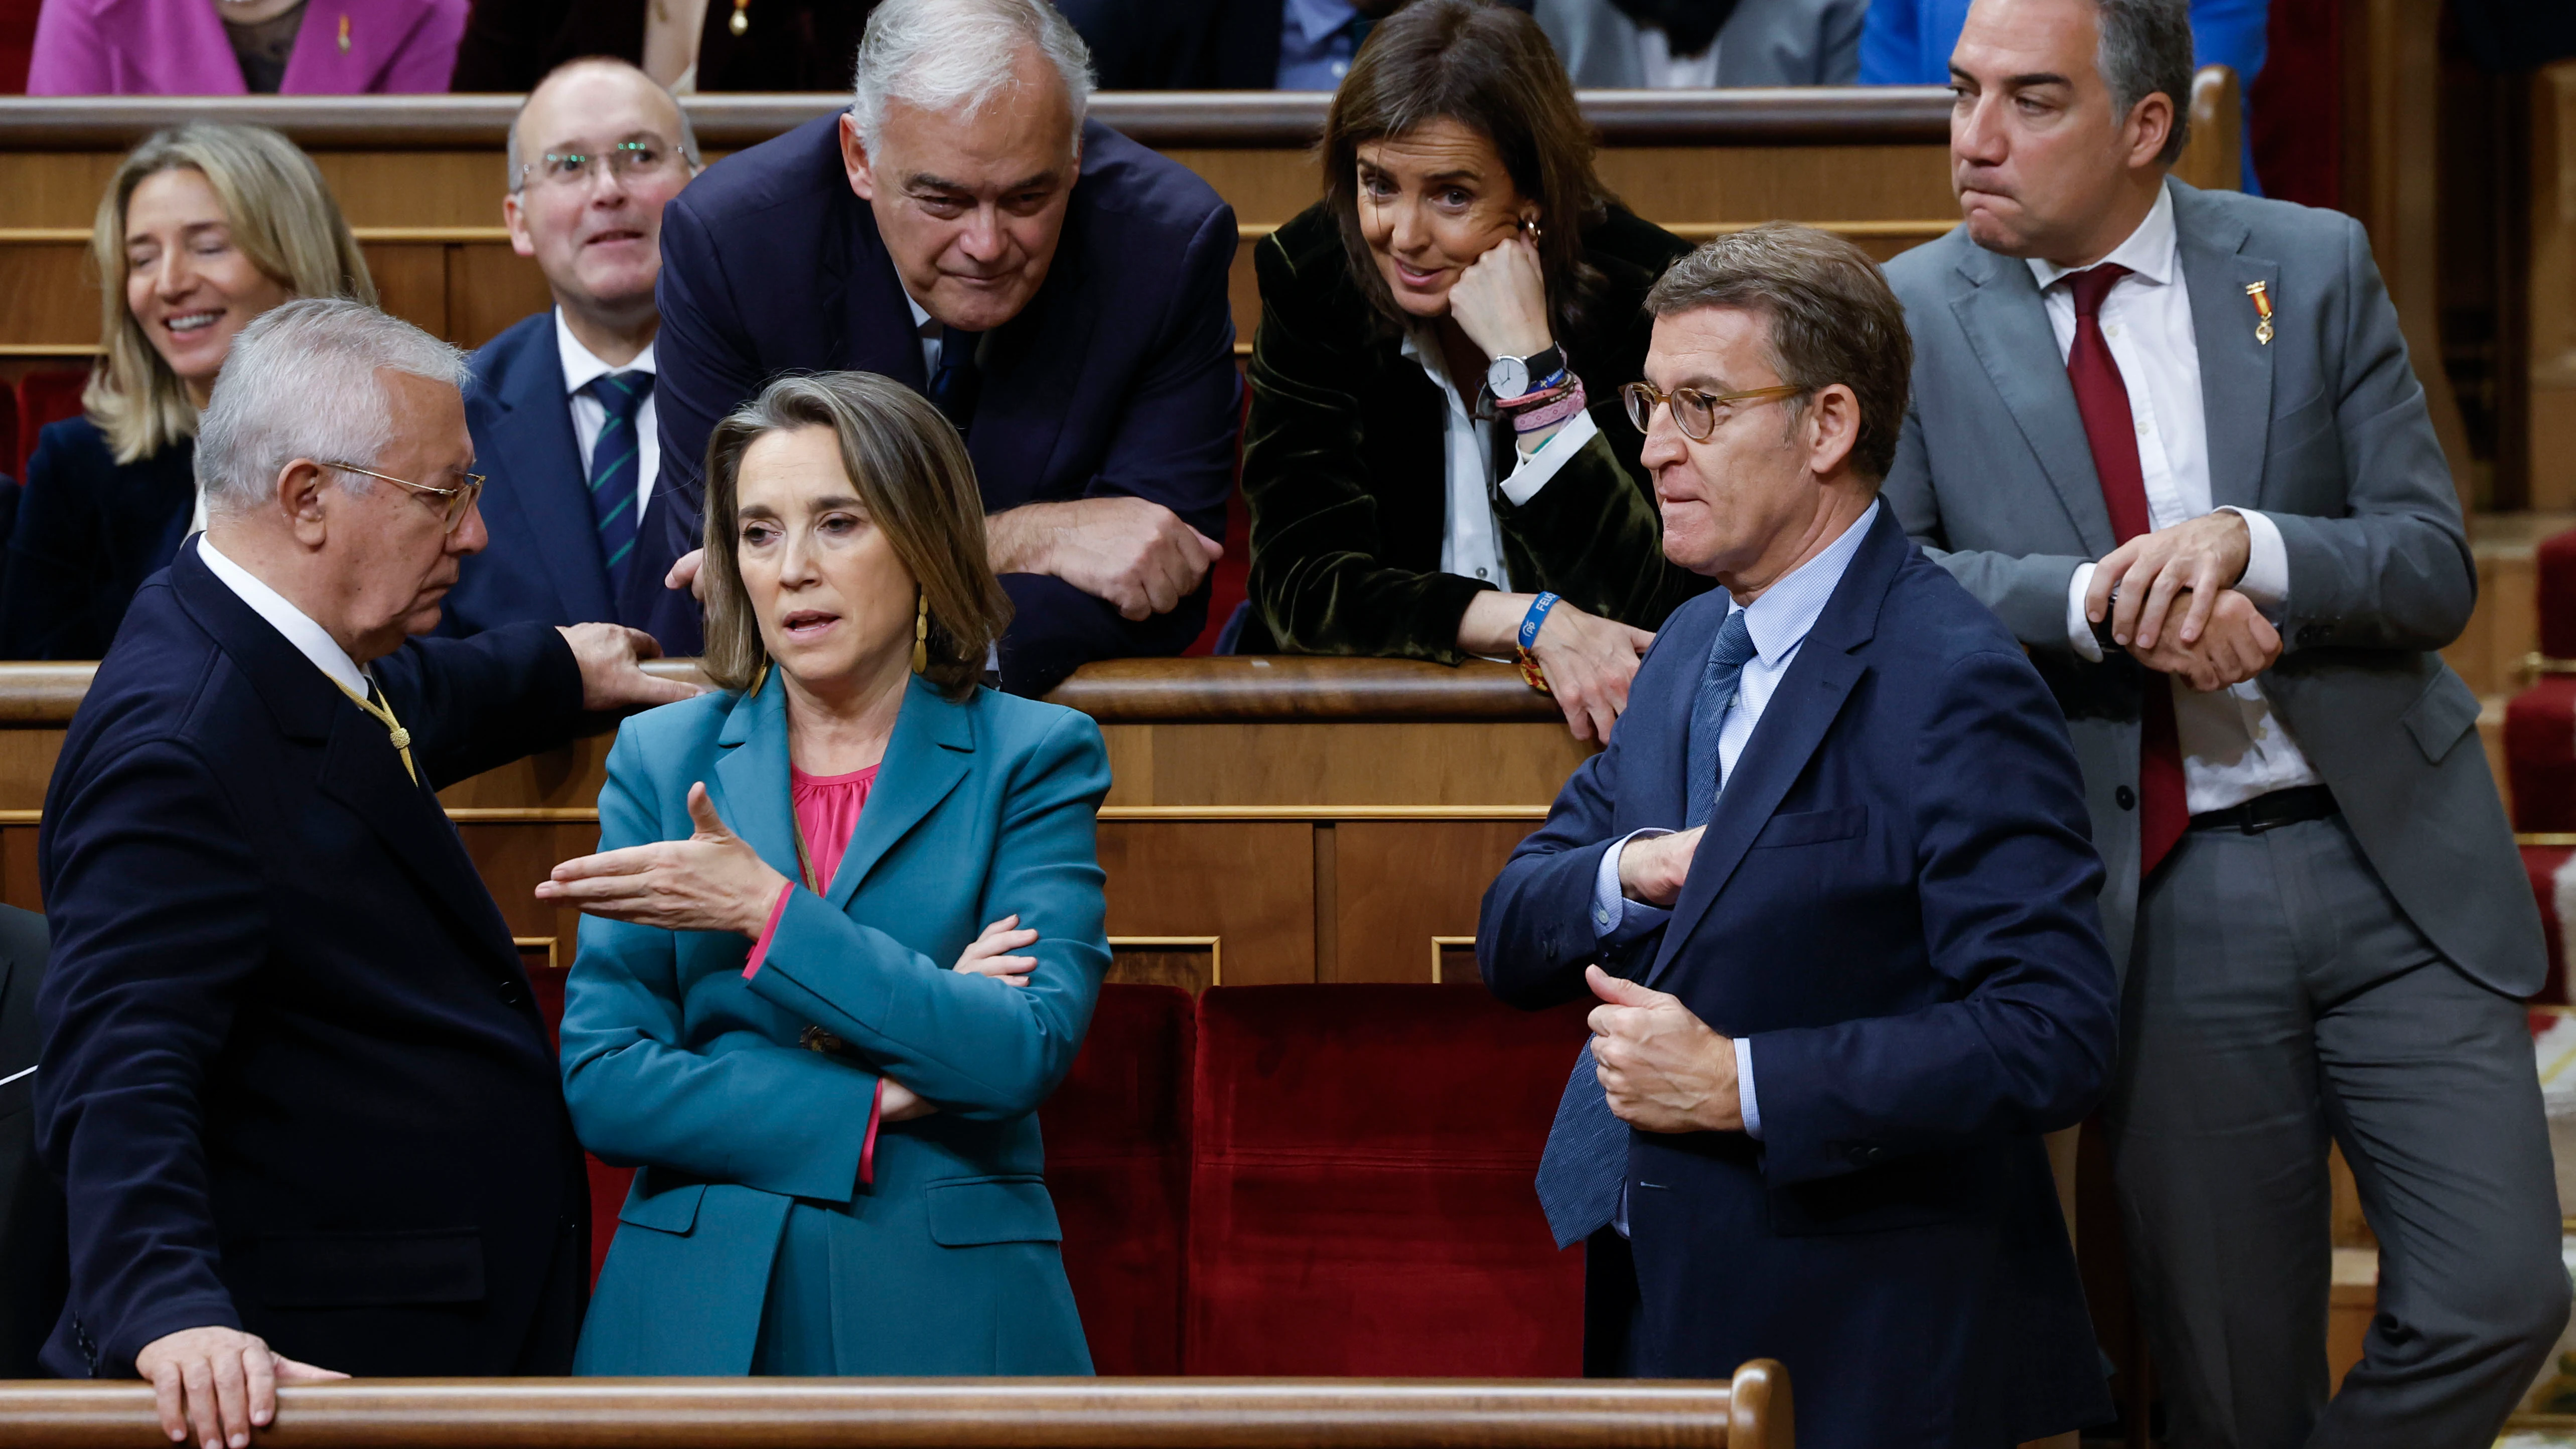
[[[2210,507],[2257,507],[2264,448],[2272,443],[2272,347],[2254,340],[2262,317],[2246,288],[2264,283],[2277,306],[2280,263],[2246,257],[2246,226],[2221,216],[2200,190],[2179,180],[2166,185],[2174,190],[2174,234],[2182,242],[2182,278],[2192,291],[2192,342],[2200,347]]]

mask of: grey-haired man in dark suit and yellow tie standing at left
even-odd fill
[[[613,623],[415,641],[484,543],[466,358],[355,301],[242,329],[206,533],[144,582],[44,800],[44,1349],[245,1449],[278,1380],[564,1374],[582,1150],[438,788],[683,700]],[[314,1364],[327,1364],[317,1369]]]

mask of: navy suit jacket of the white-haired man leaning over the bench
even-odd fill
[[[1208,183],[1090,121],[1082,178],[1046,283],[979,353],[966,450],[984,510],[1133,494],[1208,538],[1226,533],[1239,376],[1226,281],[1234,208]],[[840,116],[732,154],[662,211],[662,479],[629,582],[657,587],[698,546],[706,438],[788,371],[884,373],[927,386],[922,342],[876,234],[850,193]],[[659,522],[654,522],[659,517]],[[1144,623],[1046,574],[1005,574],[1018,610],[1002,685],[1054,687],[1087,659],[1180,654],[1208,592]],[[696,654],[701,623],[665,589],[644,628]]]

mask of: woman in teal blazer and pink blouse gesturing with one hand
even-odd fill
[[[626,721],[538,885],[574,1127],[641,1168],[574,1372],[1087,1374],[1036,1109],[1108,970],[1100,731],[976,685],[1010,602],[909,389],[783,378],[706,479],[721,690]]]

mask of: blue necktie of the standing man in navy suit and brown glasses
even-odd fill
[[[1744,610],[1726,615],[1718,641],[1700,672],[1700,692],[1690,703],[1690,746],[1685,752],[1682,826],[1708,824],[1718,800],[1718,728],[1736,703],[1744,661],[1754,656],[1754,636]],[[1610,1112],[1592,1050],[1574,1058],[1566,1091],[1556,1099],[1548,1125],[1548,1150],[1538,1158],[1538,1207],[1548,1215],[1556,1246],[1566,1248],[1600,1233],[1618,1215],[1618,1192],[1628,1179],[1628,1125]]]

